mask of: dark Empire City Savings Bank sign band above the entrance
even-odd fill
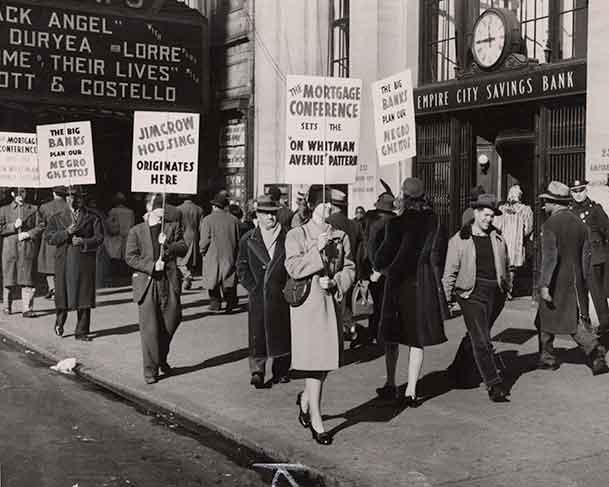
[[[586,92],[586,63],[568,62],[438,83],[414,90],[416,115]]]

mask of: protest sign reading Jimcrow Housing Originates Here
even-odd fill
[[[197,193],[199,114],[135,112],[131,190]]]

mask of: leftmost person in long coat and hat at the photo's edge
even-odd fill
[[[12,203],[0,208],[4,313],[11,314],[14,292],[21,288],[24,318],[34,318],[34,272],[42,232],[38,207],[27,203],[24,188],[11,189]]]

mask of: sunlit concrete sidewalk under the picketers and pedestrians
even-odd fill
[[[383,357],[347,352],[348,365],[330,374],[324,391],[326,428],[335,434],[329,447],[317,445],[297,422],[301,381],[262,390],[249,385],[246,312],[209,314],[201,290],[185,293],[183,304],[184,321],[169,357],[176,375],[155,385],[142,378],[129,288],[99,291],[90,343],[73,339],[72,315],[64,338],[56,337],[52,301],[44,299],[35,304],[43,316],[11,316],[0,322],[0,334],[53,360],[75,357],[96,382],[274,460],[307,465],[327,485],[607,485],[609,376],[593,377],[576,350],[563,353],[570,363],[557,372],[533,370],[537,339],[530,298],[511,302],[493,330],[498,352],[516,375],[512,402],[491,403],[482,387],[450,390],[444,370],[464,333],[457,318],[446,323],[448,343],[426,351],[418,392],[429,399],[418,409],[396,410],[375,400],[385,376]],[[574,346],[562,340],[556,345]]]

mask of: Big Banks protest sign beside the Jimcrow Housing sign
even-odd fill
[[[40,186],[95,184],[91,122],[39,125]]]

